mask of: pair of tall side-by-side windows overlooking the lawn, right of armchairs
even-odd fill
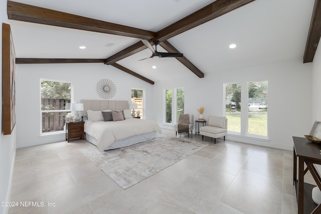
[[[229,133],[267,137],[268,81],[224,84]],[[248,102],[241,102],[241,95]],[[243,111],[241,111],[241,107]],[[244,109],[248,111],[244,111]]]

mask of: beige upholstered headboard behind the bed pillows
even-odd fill
[[[123,110],[128,109],[128,100],[80,100],[84,104],[84,111],[80,111],[81,117],[87,117],[86,110]]]

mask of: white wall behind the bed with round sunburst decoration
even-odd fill
[[[40,136],[40,79],[71,82],[73,102],[81,99],[102,100],[96,92],[101,79],[109,79],[116,85],[111,100],[131,99],[131,88],[145,89],[144,115],[152,119],[152,85],[117,68],[104,64],[39,64],[17,65],[17,147],[65,140],[65,134]]]

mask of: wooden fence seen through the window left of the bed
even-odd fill
[[[42,110],[69,110],[71,102],[65,99],[41,99],[41,104]],[[42,133],[64,130],[68,112],[42,112]]]

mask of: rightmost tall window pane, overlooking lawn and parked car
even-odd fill
[[[267,81],[248,83],[248,134],[267,136]]]

